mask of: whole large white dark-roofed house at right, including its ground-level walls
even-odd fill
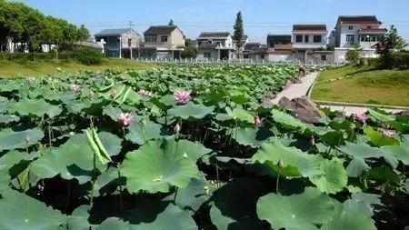
[[[387,33],[374,15],[341,15],[330,35],[329,45],[335,47],[335,61],[344,61],[346,52],[359,45],[364,56],[376,57],[374,45]]]

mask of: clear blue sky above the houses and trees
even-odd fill
[[[172,18],[185,35],[201,31],[232,31],[238,11],[244,30],[253,42],[266,35],[290,34],[293,24],[326,24],[334,27],[338,15],[377,15],[384,26],[396,25],[409,40],[409,0],[21,0],[46,15],[85,24],[92,34],[104,28],[127,26],[137,32],[149,25],[166,25]]]

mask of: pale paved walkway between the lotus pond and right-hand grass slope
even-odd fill
[[[308,89],[311,85],[314,84],[315,78],[318,76],[318,73],[311,73],[310,75],[306,75],[301,78],[301,84],[293,84],[286,87],[282,92],[280,92],[276,98],[274,98],[273,103],[278,104],[278,101],[282,97],[288,97],[290,100],[296,97],[301,97],[303,95],[307,95]],[[344,111],[346,115],[352,114],[362,114],[368,111],[367,107],[364,106],[353,106],[353,105],[320,105],[321,107],[329,107],[332,111]],[[384,109],[385,111],[391,113],[399,113],[402,112],[402,109]]]

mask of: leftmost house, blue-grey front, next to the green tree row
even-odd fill
[[[123,56],[125,51],[131,48],[137,49],[141,41],[141,35],[130,28],[105,29],[95,35],[95,42],[104,44],[106,55],[111,57],[119,57],[120,54]],[[135,57],[136,53],[133,56]]]

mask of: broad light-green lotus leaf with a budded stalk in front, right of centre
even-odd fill
[[[295,147],[284,146],[279,139],[272,138],[264,142],[261,148],[253,155],[253,162],[267,164],[278,173],[278,162],[283,162],[280,175],[304,176],[321,175],[322,158],[320,155],[308,155]]]

